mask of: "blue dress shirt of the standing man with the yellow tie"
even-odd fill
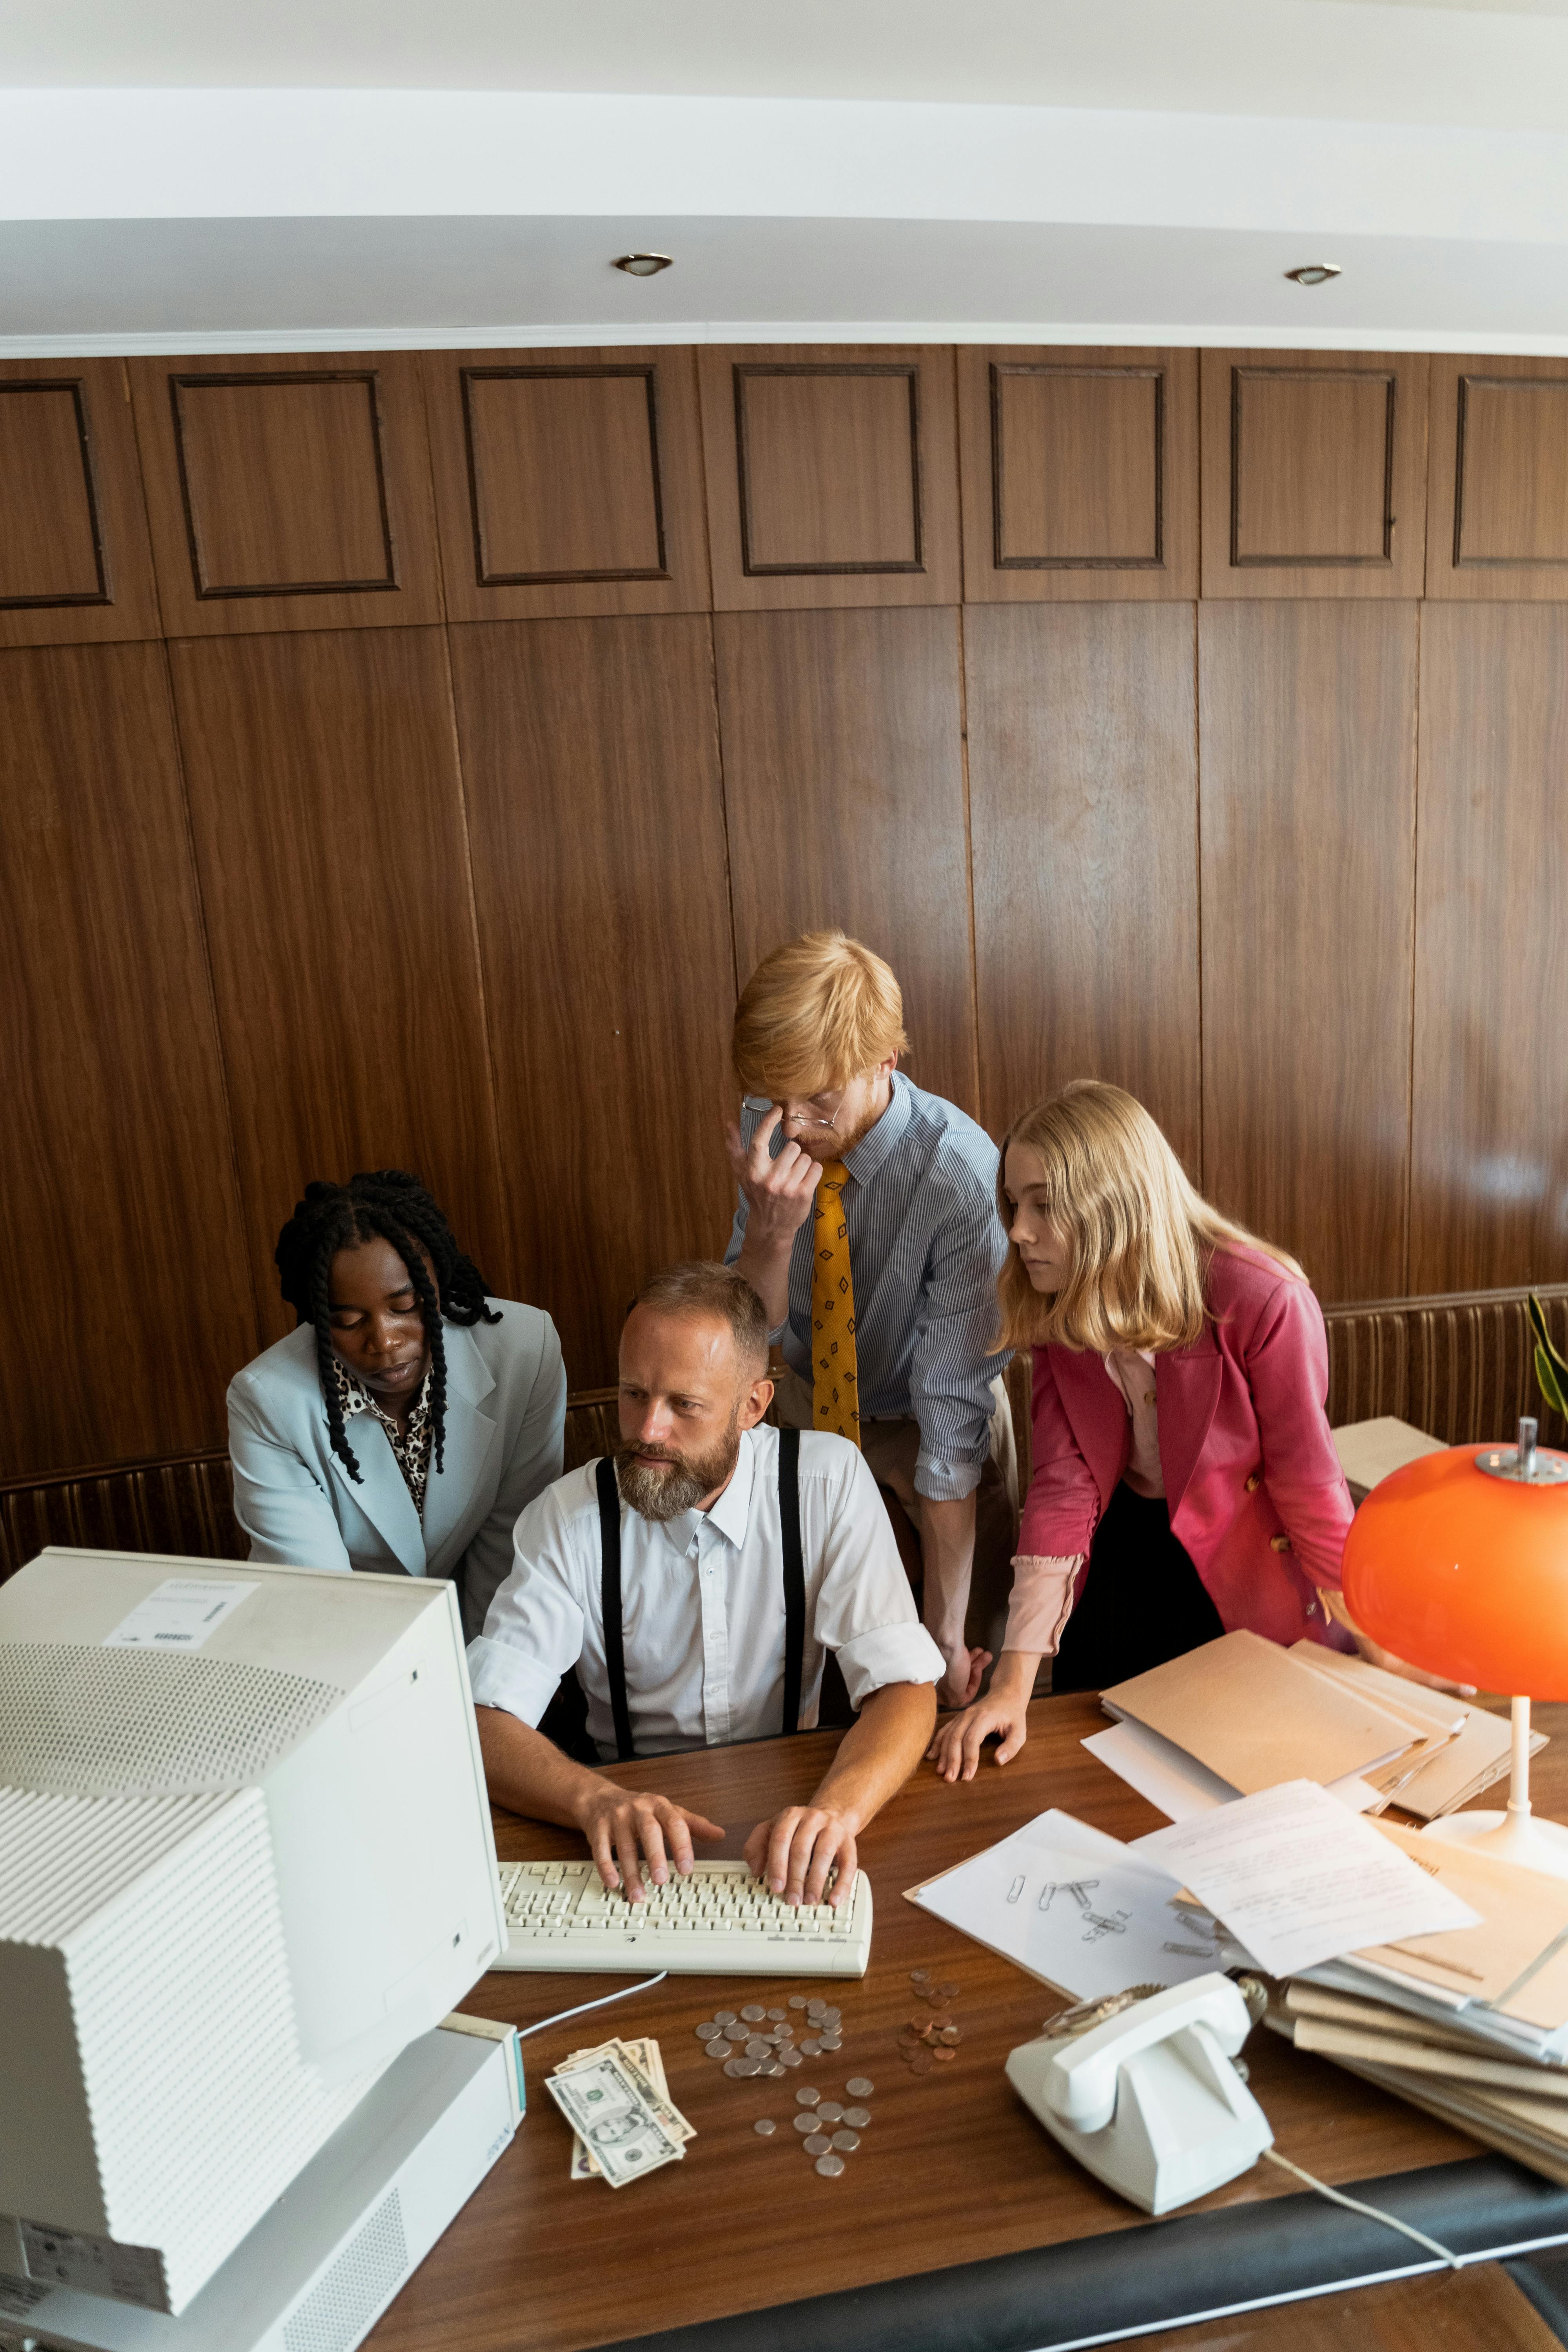
[[[748,1148],[771,1108],[745,1098],[741,1138]],[[778,1145],[780,1136],[773,1157]],[[1006,1352],[992,1350],[997,1277],[1006,1261],[997,1145],[954,1103],[922,1094],[896,1070],[889,1108],[846,1152],[844,1167],[860,1418],[914,1416],[914,1491],[957,1501],[980,1484],[990,1454],[990,1385],[1006,1364]],[[743,1240],[745,1195],[726,1265],[741,1256]],[[790,1251],[790,1319],[783,1327],[785,1359],[804,1381],[811,1381],[811,1261],[809,1216]]]

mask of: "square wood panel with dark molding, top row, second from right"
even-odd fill
[[[1204,595],[1418,597],[1427,360],[1206,350]]]

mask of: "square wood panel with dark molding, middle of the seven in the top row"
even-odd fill
[[[715,609],[957,604],[952,360],[698,353]]]

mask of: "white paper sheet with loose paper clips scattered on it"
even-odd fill
[[[1185,1985],[1246,1955],[1197,1912],[1180,1879],[1070,1813],[1041,1813],[912,1900],[1030,1976],[1091,1999],[1128,1985]]]

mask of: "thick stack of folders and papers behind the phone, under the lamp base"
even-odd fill
[[[1568,2185],[1568,1882],[1378,1823],[1476,1926],[1288,1983],[1269,2025]]]

